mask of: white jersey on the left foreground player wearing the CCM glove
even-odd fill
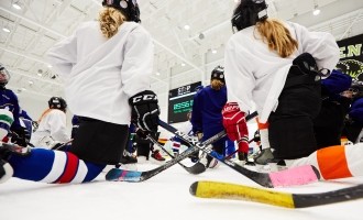
[[[150,89],[154,45],[135,22],[124,22],[109,40],[97,21],[86,22],[47,56],[64,77],[69,110],[77,116],[129,124],[129,98]]]

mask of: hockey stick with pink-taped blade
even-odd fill
[[[163,121],[160,121],[160,125],[165,130],[175,133],[184,141],[190,143],[188,139],[189,136],[184,134],[183,132],[177,131],[174,127]],[[226,131],[223,132],[226,135]],[[318,169],[311,165],[295,167],[295,168],[270,173],[270,174],[258,173],[244,168],[232,161],[224,160],[222,155],[212,151],[211,147],[199,147],[198,145],[196,146],[202,152],[207,153],[208,155],[217,158],[219,162],[226,164],[227,166],[231,167],[232,169],[239,172],[240,174],[244,175],[245,177],[250,178],[251,180],[264,187],[274,188],[280,186],[304,185],[304,184],[317,182],[320,178],[320,174]]]

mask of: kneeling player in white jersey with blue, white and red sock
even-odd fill
[[[85,183],[117,165],[128,143],[130,119],[157,131],[158,103],[147,90],[153,72],[151,35],[139,24],[135,0],[103,0],[98,21],[81,24],[48,52],[65,79],[69,110],[80,119],[69,152],[32,148],[28,156],[0,147],[13,176],[44,183]],[[4,169],[6,166],[0,168]],[[7,179],[6,172],[0,178]]]

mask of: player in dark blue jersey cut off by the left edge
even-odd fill
[[[26,139],[25,135],[25,128],[20,123],[20,106],[18,97],[12,90],[6,88],[9,80],[9,72],[2,64],[0,64],[0,109],[6,109],[12,112],[14,119],[14,122],[10,127],[9,138],[11,142],[26,146],[29,139]]]

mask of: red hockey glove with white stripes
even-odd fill
[[[249,152],[249,130],[244,119],[244,112],[237,102],[229,102],[222,109],[223,127],[231,141],[237,141],[238,152]]]

